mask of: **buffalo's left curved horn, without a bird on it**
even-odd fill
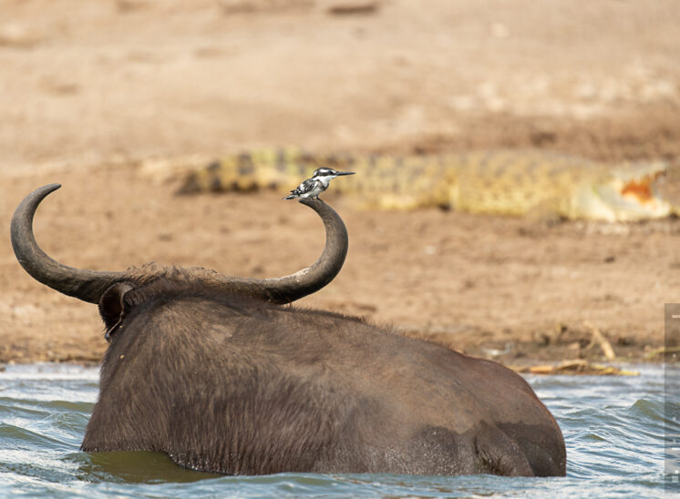
[[[104,291],[125,274],[80,270],[62,265],[40,249],[33,235],[33,216],[37,206],[47,194],[60,187],[59,184],[49,184],[36,188],[21,201],[12,217],[12,248],[15,250],[16,260],[19,260],[24,270],[34,279],[68,296],[98,303]]]

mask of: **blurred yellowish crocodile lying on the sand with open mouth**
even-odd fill
[[[629,221],[680,214],[680,185],[665,161],[607,164],[543,150],[387,156],[313,154],[297,148],[226,156],[195,168],[179,194],[294,188],[319,167],[351,169],[331,189],[363,209],[438,207],[471,213]],[[675,199],[674,199],[675,198]]]

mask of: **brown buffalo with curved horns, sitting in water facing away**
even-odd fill
[[[36,280],[98,303],[108,350],[83,451],[157,451],[221,474],[565,474],[562,432],[516,373],[361,319],[282,306],[323,288],[345,261],[345,224],[323,201],[300,201],[325,224],[319,260],[256,280],[62,265],[32,228],[59,187],[21,202],[12,244]]]

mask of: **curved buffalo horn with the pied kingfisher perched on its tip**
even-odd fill
[[[218,287],[225,292],[262,298],[275,303],[290,303],[321,290],[335,278],[345,263],[349,239],[343,219],[320,199],[300,199],[319,214],[325,225],[324,252],[314,265],[294,274],[274,279],[223,277]]]

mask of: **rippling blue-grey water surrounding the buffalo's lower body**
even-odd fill
[[[665,431],[680,405],[665,406],[662,367],[640,369],[639,377],[528,377],[562,427],[566,477],[232,477],[184,470],[161,453],[81,453],[98,370],[7,366],[0,372],[0,496],[659,497],[665,494]],[[677,380],[680,372],[672,372]],[[678,426],[670,429],[680,433]]]

